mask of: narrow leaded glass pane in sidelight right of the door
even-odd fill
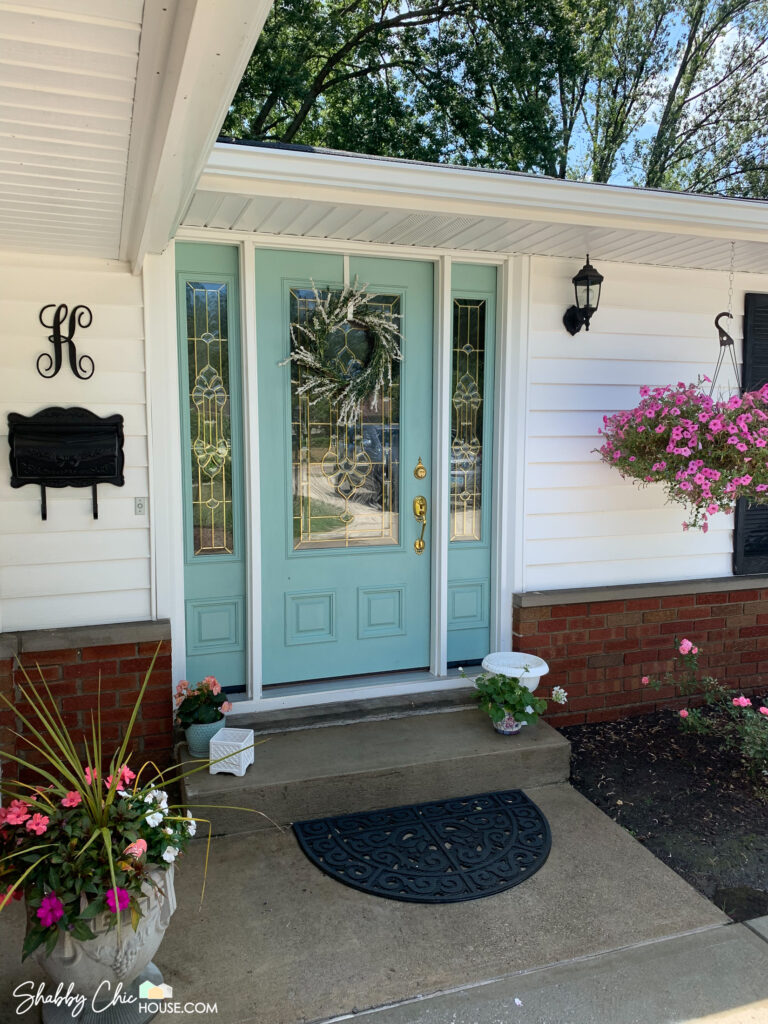
[[[485,300],[454,300],[451,540],[482,540]]]

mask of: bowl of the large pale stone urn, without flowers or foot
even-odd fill
[[[115,922],[115,915],[106,911],[88,922],[95,939],[81,941],[65,933],[50,955],[46,954],[44,946],[38,946],[35,958],[48,975],[53,988],[60,983],[66,990],[72,984],[76,992],[90,1001],[99,986],[103,986],[100,994],[104,990],[114,994],[119,982],[126,988],[150,965],[176,909],[173,864],[167,871],[154,868],[150,878],[159,888],[144,886],[145,895],[141,898],[143,915],[135,932],[130,910],[123,910],[118,939],[117,928],[108,928],[110,922]],[[103,982],[109,982],[109,988]],[[105,1015],[103,1019],[110,1018]]]

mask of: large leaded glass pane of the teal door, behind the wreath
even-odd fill
[[[291,289],[291,323],[304,323],[313,305],[310,288]],[[371,305],[399,315],[396,295],[373,296]],[[333,343],[331,355],[347,372],[368,358],[369,342],[357,328],[347,326]],[[301,367],[291,364],[294,549],[398,544],[399,364],[378,409],[367,401],[354,424],[339,424],[329,401],[310,406],[297,394],[301,381]]]

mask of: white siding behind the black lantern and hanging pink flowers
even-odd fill
[[[728,274],[590,256],[605,282],[589,333],[574,337],[562,314],[580,264],[531,261],[524,590],[730,575],[732,517],[684,532],[683,507],[666,504],[660,486],[622,480],[592,454],[603,415],[636,406],[641,385],[712,376]],[[768,292],[768,275],[736,275],[737,340],[746,291]]]

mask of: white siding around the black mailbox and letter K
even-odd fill
[[[141,279],[111,260],[7,252],[0,253],[0,629],[150,618],[150,515],[134,514],[134,498],[150,493]],[[75,334],[78,355],[95,364],[89,380],[75,378],[66,350],[56,377],[37,373],[38,355],[53,351],[38,314],[60,302],[93,313],[91,326]],[[10,486],[8,413],[30,416],[50,406],[124,417],[125,486],[98,485],[97,520],[89,487],[49,488],[43,522],[40,488]]]

